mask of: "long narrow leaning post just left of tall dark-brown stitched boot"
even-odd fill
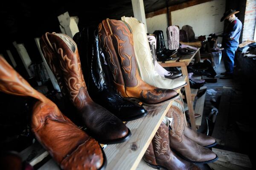
[[[58,90],[58,91],[60,92],[60,91],[61,91],[60,86],[58,85],[58,82],[57,82],[57,80],[56,80],[54,74],[52,73],[52,70],[49,68],[49,66],[48,66],[48,64],[47,64],[47,62],[46,62],[46,60],[45,60],[45,58],[44,58],[44,55],[43,55],[43,53],[42,53],[42,51],[41,51],[40,43],[39,43],[39,38],[35,38],[35,43],[36,43],[36,46],[38,47],[38,50],[39,50],[39,52],[40,52],[40,55],[41,55],[41,57],[42,57],[42,59],[43,59],[44,66],[45,66],[45,68],[46,68],[46,70],[47,70],[47,73],[48,73],[48,75],[49,75],[49,78],[50,78],[50,80],[51,80],[51,82],[52,82],[52,86],[54,87],[54,89],[56,89],[56,90]]]

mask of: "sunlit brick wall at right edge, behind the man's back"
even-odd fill
[[[253,40],[256,24],[256,0],[247,0],[244,16],[243,41]]]

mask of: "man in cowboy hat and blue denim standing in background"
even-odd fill
[[[236,13],[239,11],[236,10],[228,10],[223,14],[221,18],[221,22],[223,20],[228,20],[228,24],[223,34],[223,58],[224,58],[224,66],[226,72],[221,73],[224,77],[221,79],[230,79],[233,78],[233,67],[234,67],[234,58],[235,52],[239,45],[239,37],[242,29],[241,21],[236,17]]]

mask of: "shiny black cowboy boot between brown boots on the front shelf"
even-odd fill
[[[82,43],[86,39],[85,32],[76,33],[75,37],[78,44],[79,53],[84,49],[86,44]],[[73,39],[74,39],[73,38]],[[121,121],[131,121],[147,115],[147,111],[137,103],[125,100],[116,93],[111,84],[111,77],[109,75],[108,67],[105,65],[105,58],[102,54],[102,49],[99,46],[99,36],[96,31],[93,34],[93,55],[90,64],[89,85],[88,92],[90,97],[96,103],[108,109]],[[80,48],[79,48],[80,47]],[[81,56],[81,55],[80,55]],[[84,56],[86,57],[86,56]],[[91,93],[90,93],[91,92]]]

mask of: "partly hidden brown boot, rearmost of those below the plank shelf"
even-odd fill
[[[173,101],[172,106],[178,107],[180,109],[180,111],[184,113],[183,100],[181,97],[179,97],[175,101]],[[185,118],[184,114],[183,114],[183,116]],[[186,120],[186,118],[185,118],[185,120]],[[203,147],[206,147],[206,148],[213,147],[217,144],[215,138],[205,135],[204,133],[198,133],[197,131],[190,129],[187,126],[185,126],[183,133],[187,138],[191,139],[192,141],[195,141],[195,143],[197,143]]]

